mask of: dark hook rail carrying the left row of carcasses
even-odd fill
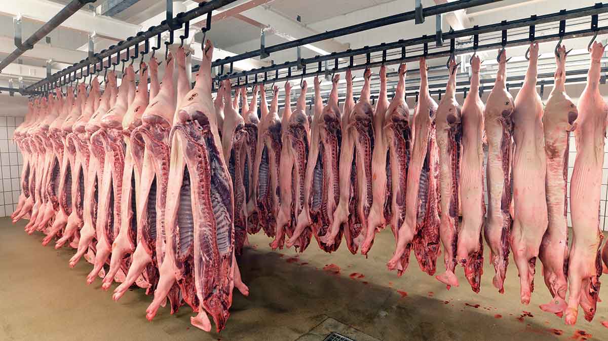
[[[128,50],[131,47],[134,47],[136,51],[136,55],[139,53],[139,44],[145,43],[145,46],[150,45],[150,38],[157,36],[158,43],[160,44],[160,36],[161,33],[169,31],[171,34],[170,41],[173,43],[173,31],[180,29],[184,24],[190,22],[190,20],[194,18],[198,18],[202,15],[207,15],[207,22],[210,21],[210,15],[213,10],[219,9],[225,5],[231,4],[232,2],[237,2],[238,0],[211,0],[208,2],[201,2],[198,7],[195,9],[189,10],[188,12],[178,13],[174,18],[170,20],[164,20],[158,26],[152,26],[147,31],[139,32],[136,36],[130,36],[126,38],[125,41],[121,41],[116,46],[112,45],[106,50],[102,50],[99,53],[91,53],[92,55],[84,60],[81,60],[78,63],[74,63],[72,66],[66,67],[65,69],[56,72],[55,74],[50,75],[43,80],[40,80],[27,88],[24,89],[25,93],[32,92],[37,89],[38,91],[47,92],[49,89],[52,89],[52,85],[60,86],[66,83],[71,83],[76,79],[80,79],[82,77],[88,77],[89,74],[97,73],[109,67],[111,63],[111,59],[114,55],[120,55],[123,50]],[[207,29],[209,26],[207,26]],[[206,29],[203,29],[206,31]],[[165,42],[168,44],[168,42]],[[158,47],[152,47],[153,51],[160,49]],[[148,53],[148,49],[145,49],[142,52],[142,55]],[[127,56],[129,52],[127,52]],[[137,57],[137,56],[134,56]],[[105,66],[104,59],[108,58],[107,66]],[[118,57],[120,58],[120,57]],[[133,57],[132,57],[133,59]],[[99,67],[99,68],[98,68]],[[87,70],[87,74],[84,74],[84,70]],[[77,72],[80,71],[80,77],[77,77]]]

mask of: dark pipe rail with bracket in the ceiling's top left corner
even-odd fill
[[[42,38],[47,36],[52,30],[56,29],[61,25],[67,18],[74,15],[74,13],[78,12],[84,5],[89,4],[91,2],[95,2],[95,0],[72,0],[69,4],[66,5],[62,10],[59,11],[53,18],[44,24],[40,29],[33,33],[32,36],[27,38],[26,41],[22,41],[21,38],[21,21],[15,23],[15,46],[16,49],[11,52],[4,60],[0,62],[0,72],[9,66],[10,63],[13,63],[17,58],[21,57],[21,55],[27,50],[33,49],[34,45],[38,43]]]

